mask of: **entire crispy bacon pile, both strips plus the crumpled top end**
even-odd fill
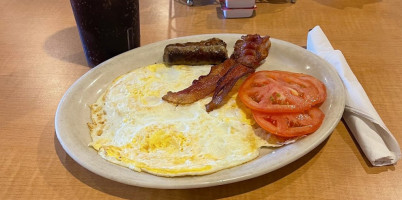
[[[206,105],[207,111],[217,108],[235,83],[243,76],[254,72],[263,61],[271,47],[269,36],[245,35],[236,41],[234,52],[223,63],[214,65],[206,76],[194,80],[191,86],[178,92],[168,92],[163,100],[176,104],[189,104],[209,94],[214,95]]]

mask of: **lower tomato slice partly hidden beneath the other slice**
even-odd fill
[[[325,114],[317,107],[302,113],[263,113],[252,111],[255,121],[264,130],[280,137],[297,137],[315,132]]]

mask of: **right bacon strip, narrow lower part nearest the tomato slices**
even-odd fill
[[[233,86],[241,77],[253,73],[254,71],[254,69],[239,63],[236,63],[230,68],[229,71],[219,79],[211,102],[205,105],[207,112],[214,110],[222,103],[225,96],[232,90]]]

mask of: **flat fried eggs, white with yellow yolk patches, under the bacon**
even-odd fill
[[[90,106],[89,146],[112,163],[166,177],[210,174],[255,159],[272,144],[255,133],[237,89],[209,113],[211,97],[188,105],[162,100],[209,70],[154,64],[116,78]]]

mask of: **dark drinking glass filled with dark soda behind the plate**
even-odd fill
[[[70,0],[88,65],[140,46],[138,0]]]

